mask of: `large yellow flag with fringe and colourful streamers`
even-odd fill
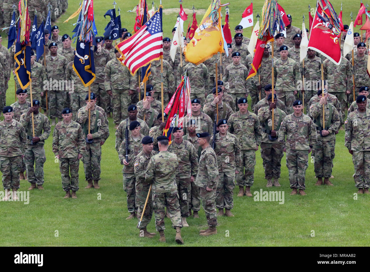
[[[228,4],[220,4],[220,0],[212,0],[201,23],[195,30],[194,37],[186,46],[186,61],[198,65],[217,54],[217,52],[224,52],[221,7]]]

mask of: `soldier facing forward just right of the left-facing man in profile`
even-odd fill
[[[233,191],[235,175],[241,168],[240,145],[235,135],[228,132],[228,121],[220,119],[217,123],[219,133],[211,137],[215,139],[215,154],[218,165],[218,185],[216,191],[217,216],[234,216],[231,209],[234,206]],[[225,208],[225,214],[223,213]]]

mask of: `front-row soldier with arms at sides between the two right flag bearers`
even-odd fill
[[[278,141],[286,152],[286,167],[289,172],[290,188],[296,195],[305,193],[305,175],[308,167],[308,154],[316,144],[316,128],[309,116],[302,113],[302,101],[293,103],[294,113],[287,115],[279,129]]]

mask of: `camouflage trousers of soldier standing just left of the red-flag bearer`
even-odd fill
[[[240,150],[240,155],[242,157],[242,168],[240,173],[236,175],[236,185],[243,187],[252,186],[254,182],[254,167],[256,165],[256,151]]]

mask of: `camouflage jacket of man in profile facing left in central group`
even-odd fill
[[[216,188],[218,177],[218,165],[216,153],[210,145],[202,150],[199,158],[198,174],[194,184],[201,188]]]

